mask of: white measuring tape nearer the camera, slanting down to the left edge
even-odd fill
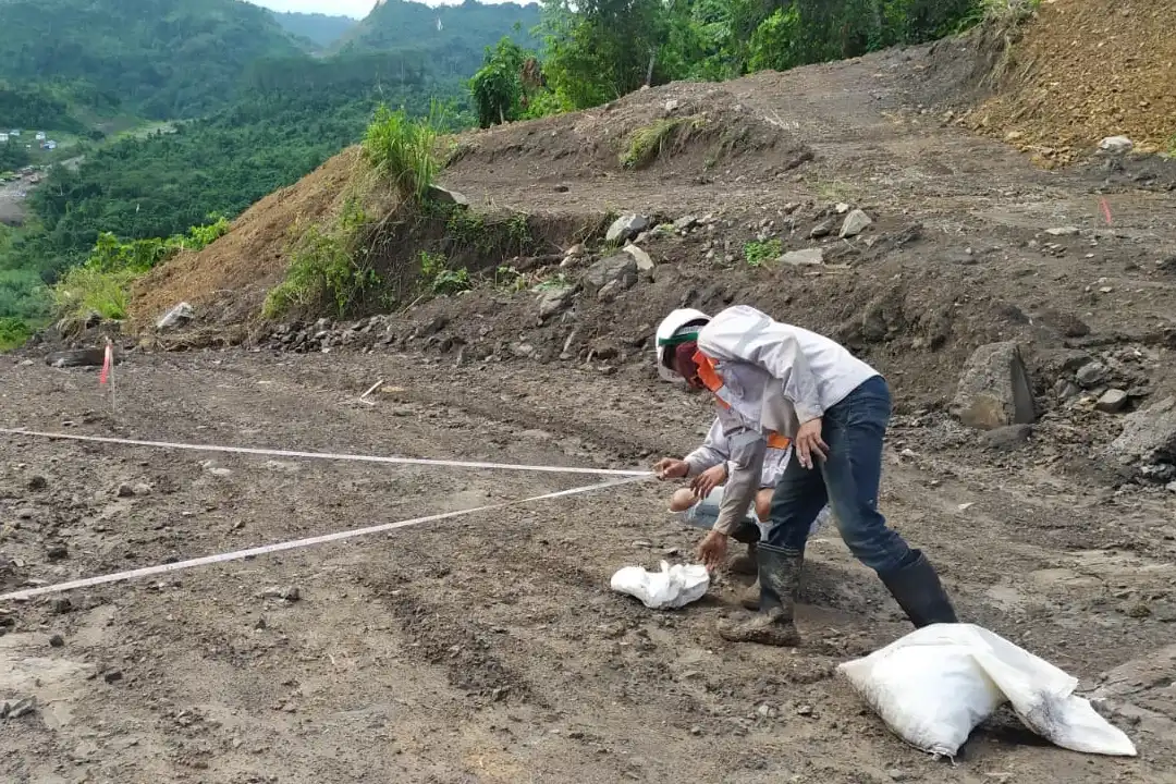
[[[556,492],[547,492],[541,496],[533,496],[530,498],[523,498],[521,501],[507,501],[503,503],[489,504],[486,507],[476,507],[474,509],[462,509],[461,511],[447,511],[440,515],[429,515],[427,517],[414,517],[413,520],[402,520],[396,523],[383,523],[380,525],[369,525],[368,528],[356,528],[349,531],[339,531],[336,534],[325,534],[322,536],[310,536],[305,540],[295,540],[293,542],[280,542],[278,544],[263,544],[261,547],[250,548],[248,550],[236,550],[235,552],[221,552],[220,555],[208,555],[201,558],[191,558],[188,561],[176,561],[175,563],[163,563],[156,567],[143,567],[142,569],[131,569],[129,571],[119,571],[113,575],[100,575],[98,577],[85,577],[82,579],[71,579],[65,583],[56,583],[55,585],[42,585],[39,588],[28,588],[20,591],[13,591],[11,594],[0,595],[0,602],[4,601],[25,601],[31,599],[35,596],[44,596],[46,594],[60,594],[62,591],[69,591],[78,588],[91,588],[93,585],[102,585],[106,583],[116,583],[126,579],[136,579],[139,577],[151,577],[152,575],[162,575],[169,571],[179,571],[181,569],[192,569],[193,567],[203,567],[212,563],[225,563],[227,561],[241,561],[242,558],[248,558],[258,555],[266,555],[269,552],[280,552],[282,550],[294,550],[298,548],[307,548],[314,544],[326,544],[328,542],[339,542],[342,540],[349,540],[356,536],[367,536],[368,534],[382,534],[385,531],[392,531],[397,528],[408,528],[409,525],[420,525],[421,523],[432,523],[439,520],[448,520],[450,517],[461,517],[462,515],[473,515],[480,511],[492,511],[495,509],[506,509],[507,507],[515,507],[519,504],[532,503],[535,501],[547,501],[549,498],[562,498],[564,496],[579,495],[581,492],[592,492],[594,490],[606,490],[608,488],[620,487],[622,484],[630,484],[633,482],[641,482],[642,480],[649,478],[647,476],[635,476],[624,480],[613,480],[610,482],[603,482],[601,484],[588,484],[584,487],[573,488],[570,490],[559,490]]]

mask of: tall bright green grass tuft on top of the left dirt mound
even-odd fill
[[[363,136],[363,154],[377,176],[403,199],[422,201],[440,165],[434,155],[440,120],[413,119],[380,107]]]

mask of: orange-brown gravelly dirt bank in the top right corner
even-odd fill
[[[1045,0],[1000,62],[996,95],[967,122],[1070,163],[1125,135],[1142,152],[1176,145],[1174,0]]]

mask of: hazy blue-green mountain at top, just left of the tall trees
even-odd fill
[[[539,25],[539,5],[515,2],[426,6],[407,0],[383,0],[336,45],[340,53],[416,49],[427,52],[439,74],[468,78],[482,66],[487,46],[503,36],[534,48],[530,35]]]

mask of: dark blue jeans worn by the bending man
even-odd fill
[[[768,544],[803,555],[809,528],[828,503],[841,538],[858,561],[880,575],[907,565],[915,556],[877,509],[882,478],[882,438],[890,422],[890,389],[882,376],[863,382],[824,413],[821,437],[829,455],[818,470],[788,463],[771,497]]]

